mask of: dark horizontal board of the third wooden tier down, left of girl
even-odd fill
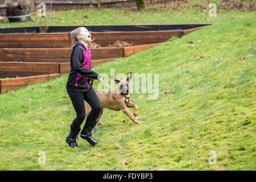
[[[59,63],[0,62],[0,72],[59,73]]]

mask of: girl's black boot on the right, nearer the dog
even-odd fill
[[[94,126],[94,122],[87,121],[85,122],[84,128],[82,129],[80,136],[81,138],[87,140],[90,144],[95,146],[98,142],[96,139],[92,137],[92,129]]]

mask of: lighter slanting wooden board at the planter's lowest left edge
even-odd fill
[[[8,90],[14,90],[21,88],[23,86],[36,84],[39,82],[48,81],[51,78],[60,77],[60,74],[51,74],[51,75],[40,75],[40,76],[30,76],[22,78],[13,78],[10,80],[0,80],[1,93],[7,92]]]

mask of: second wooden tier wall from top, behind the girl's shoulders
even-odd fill
[[[92,60],[117,59],[158,46],[161,43],[126,48],[90,48]],[[72,48],[0,48],[0,61],[69,63]]]

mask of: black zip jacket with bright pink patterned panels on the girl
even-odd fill
[[[93,80],[101,76],[90,69],[90,50],[84,44],[77,43],[71,53],[71,70],[66,88],[71,91],[88,92],[93,86]],[[90,80],[92,83],[89,85]]]

